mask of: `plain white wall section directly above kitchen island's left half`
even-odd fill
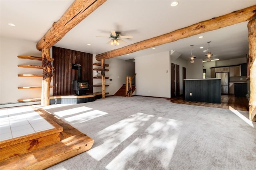
[[[203,78],[203,60],[195,59],[194,63],[187,61],[187,79]]]

